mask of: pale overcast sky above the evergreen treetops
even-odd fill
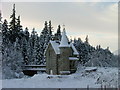
[[[52,21],[54,32],[65,24],[68,37],[89,36],[91,45],[118,49],[117,2],[17,2],[16,14],[21,16],[23,29],[34,27],[41,32],[44,21]],[[3,19],[10,21],[13,3],[2,3]]]

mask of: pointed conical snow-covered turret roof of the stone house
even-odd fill
[[[69,42],[69,41],[68,41],[68,38],[67,38],[67,36],[66,36],[65,29],[63,29],[62,39],[61,39],[61,42],[60,42],[59,47],[69,47],[68,42]]]

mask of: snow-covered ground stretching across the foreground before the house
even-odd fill
[[[81,67],[71,75],[36,74],[33,77],[22,79],[6,79],[2,81],[3,88],[100,88],[101,84],[107,87],[117,87],[117,68],[97,68],[97,71],[86,72],[92,68]],[[49,76],[49,78],[48,78]]]

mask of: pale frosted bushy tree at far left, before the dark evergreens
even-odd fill
[[[23,58],[18,40],[14,43],[8,41],[4,46],[2,60],[3,78],[20,78],[22,77]]]

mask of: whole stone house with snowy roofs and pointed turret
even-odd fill
[[[70,43],[65,29],[62,33],[61,41],[50,41],[46,50],[46,72],[53,75],[71,74],[76,71],[76,63],[79,53]]]

